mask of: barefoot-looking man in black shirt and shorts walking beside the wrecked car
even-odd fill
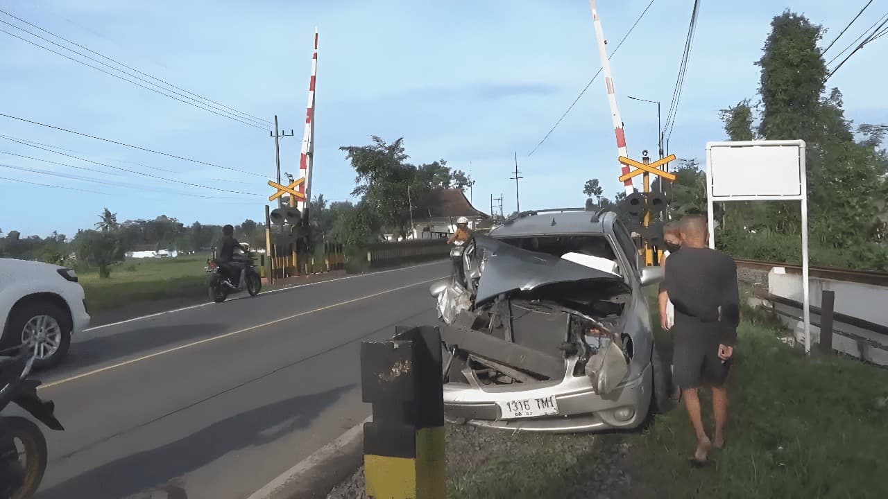
[[[740,292],[733,258],[708,248],[709,230],[705,218],[683,218],[680,233],[681,251],[669,257],[663,288],[675,307],[675,324],[670,329],[675,345],[673,381],[681,388],[697,436],[692,461],[702,464],[706,462],[710,448],[725,446],[725,380],[737,341]],[[703,430],[697,390],[704,384],[712,387],[716,423],[714,441]]]

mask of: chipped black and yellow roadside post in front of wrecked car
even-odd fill
[[[373,499],[444,499],[444,401],[440,331],[396,328],[361,344],[361,393],[373,405],[364,424],[364,476]]]

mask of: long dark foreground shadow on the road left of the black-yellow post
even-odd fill
[[[250,446],[262,446],[290,432],[308,427],[325,408],[335,403],[354,384],[326,392],[300,395],[251,409],[210,424],[181,440],[128,455],[51,487],[40,499],[121,499],[161,487],[190,471],[212,463],[222,455]],[[184,486],[177,497],[186,497]],[[149,495],[151,496],[151,495]]]

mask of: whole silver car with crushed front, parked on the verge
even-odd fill
[[[638,251],[612,212],[524,212],[472,238],[430,289],[448,421],[538,432],[635,428],[665,402]],[[653,405],[652,405],[653,404]]]

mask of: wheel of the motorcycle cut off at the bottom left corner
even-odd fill
[[[37,488],[40,487],[40,481],[44,479],[44,471],[46,471],[46,461],[48,454],[46,451],[46,438],[44,433],[40,431],[40,427],[32,423],[30,420],[20,416],[4,417],[0,420],[0,429],[2,429],[4,440],[12,442],[13,447],[18,440],[24,450],[25,464],[22,468],[20,462],[2,463],[6,470],[11,471],[8,465],[18,468],[20,477],[23,479],[21,486],[12,492],[12,499],[28,499],[33,497]],[[16,460],[19,456],[16,455]],[[5,477],[0,477],[4,479]]]

